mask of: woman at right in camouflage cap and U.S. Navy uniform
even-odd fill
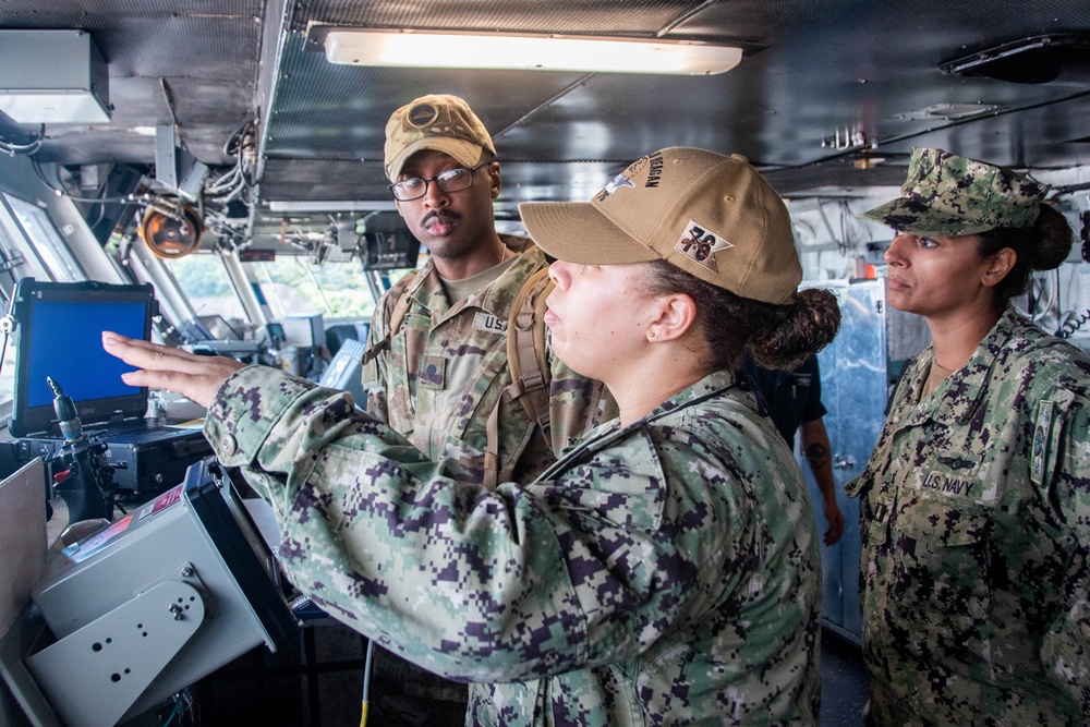
[[[862,475],[874,725],[1090,722],[1090,358],[1009,300],[1071,245],[1047,187],[941,149],[864,217],[927,318]]]

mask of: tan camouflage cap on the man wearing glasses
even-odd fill
[[[458,96],[433,94],[405,104],[386,123],[386,175],[398,181],[405,160],[422,149],[449,154],[465,167],[475,167],[484,152],[496,155],[492,136]]]

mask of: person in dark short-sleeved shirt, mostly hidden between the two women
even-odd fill
[[[828,432],[822,420],[826,410],[821,402],[818,358],[809,356],[794,371],[768,371],[761,368],[752,356],[747,356],[746,373],[788,447],[795,447],[795,433],[802,429],[802,453],[821,490],[825,521],[828,523],[825,545],[834,545],[844,535],[844,513],[836,504]]]

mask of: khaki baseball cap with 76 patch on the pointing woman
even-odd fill
[[[537,245],[581,265],[665,259],[730,292],[789,303],[802,280],[787,207],[737,154],[675,146],[634,161],[590,202],[523,203]]]

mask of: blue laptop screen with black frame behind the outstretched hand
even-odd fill
[[[147,340],[154,303],[150,284],[20,280],[12,308],[16,356],[11,435],[59,431],[47,378],[71,397],[84,426],[143,416],[147,389],[121,380],[133,367],[102,350],[102,331]]]

